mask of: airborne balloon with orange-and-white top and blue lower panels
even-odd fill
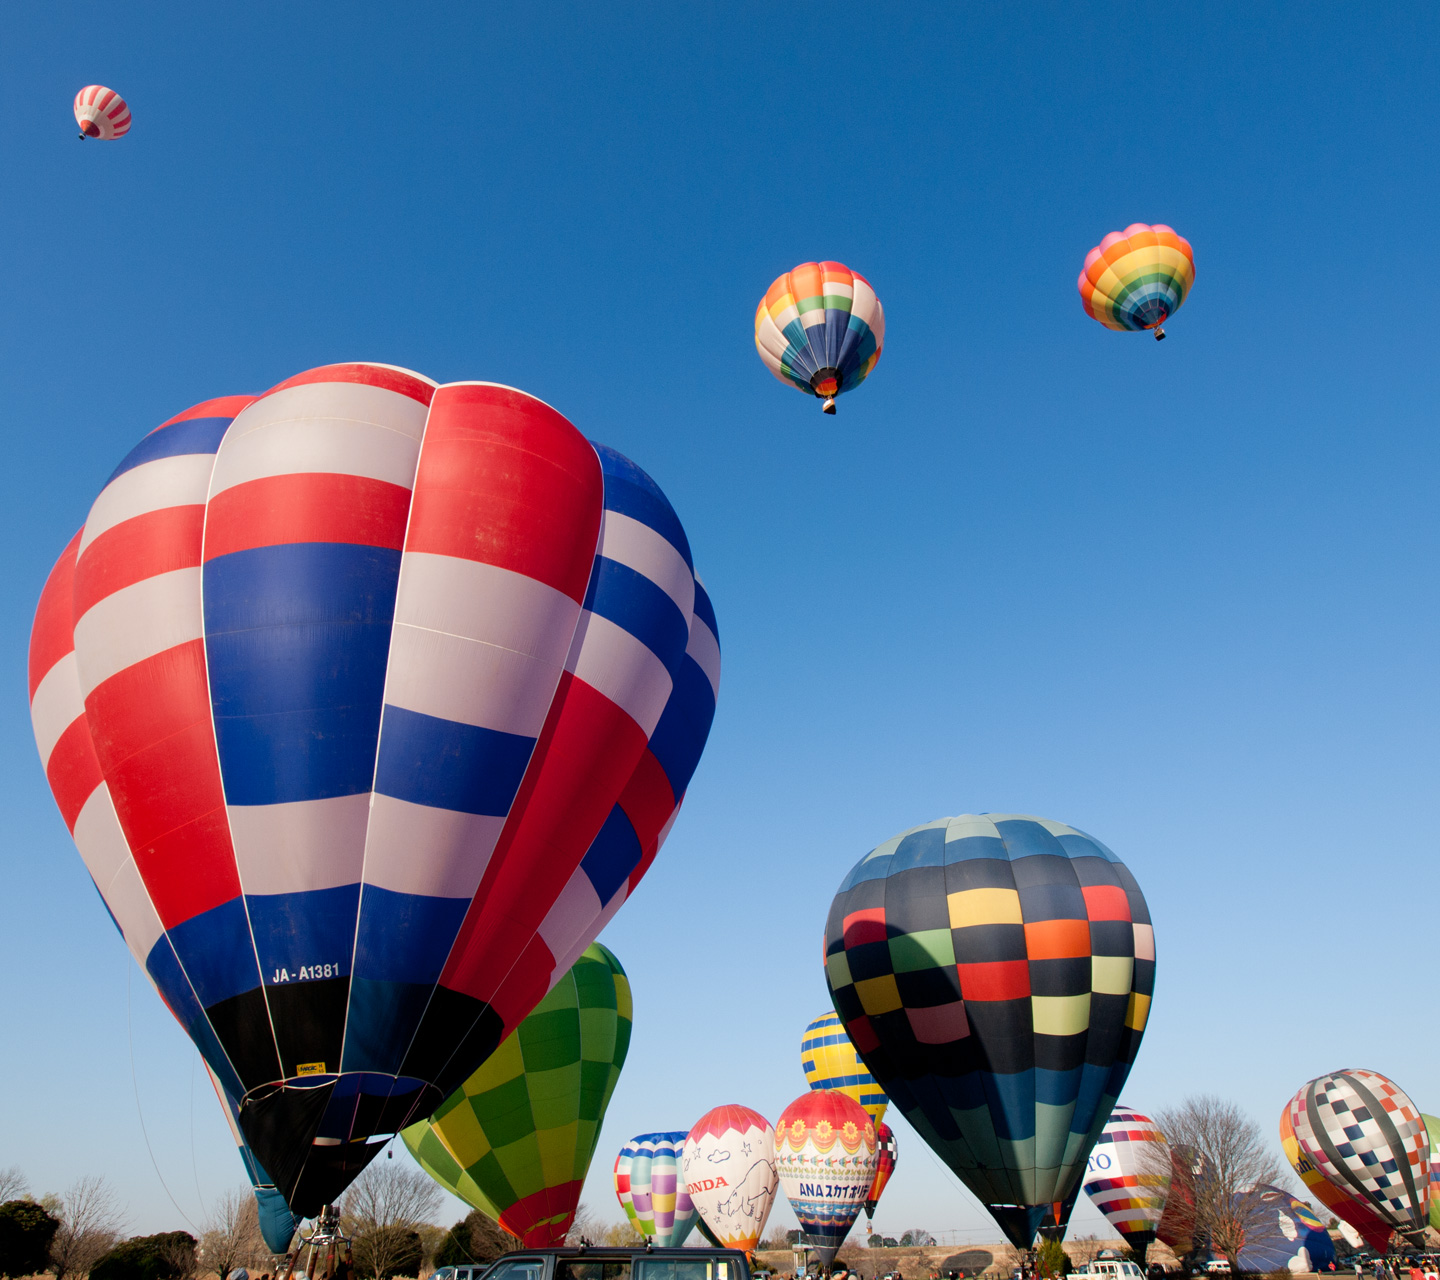
[[[755,312],[755,347],[780,382],[822,400],[858,387],[880,360],[886,312],[870,281],[842,262],[802,262],[766,291]]]

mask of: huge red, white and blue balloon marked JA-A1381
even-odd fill
[[[625,901],[719,675],[645,472],[523,392],[337,364],[131,451],[42,592],[30,711],[111,916],[310,1217]]]

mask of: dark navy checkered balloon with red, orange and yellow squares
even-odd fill
[[[873,849],[825,926],[860,1057],[1017,1248],[1060,1237],[1155,985],[1145,897],[1043,818],[940,818]]]

